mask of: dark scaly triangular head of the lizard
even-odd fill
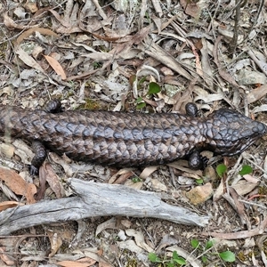
[[[216,154],[233,156],[267,133],[267,125],[231,109],[219,109],[206,119],[206,144]]]

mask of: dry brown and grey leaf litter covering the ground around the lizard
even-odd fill
[[[61,99],[65,109],[86,104],[89,109],[133,111],[137,107],[136,101],[141,98],[141,112],[183,112],[185,103],[195,101],[201,113],[199,116],[206,116],[220,107],[245,109],[247,115],[255,116],[267,110],[264,85],[266,4],[264,1],[245,2],[240,8],[239,20],[236,20],[234,1],[115,1],[102,4],[97,0],[67,0],[61,4],[45,1],[0,4],[2,103],[42,109],[46,101],[56,97]],[[237,36],[236,44],[233,44],[234,36]],[[159,85],[159,93],[148,94],[151,82]],[[266,121],[266,116],[260,116]],[[252,159],[230,158],[226,162],[229,172],[222,181],[215,172],[211,172],[211,177],[207,175],[207,180],[203,179],[207,185],[212,184],[206,195],[210,197],[214,190],[213,200],[194,197],[192,201],[186,194],[194,188],[204,193],[202,185],[196,181],[205,174],[189,170],[182,161],[142,170],[116,170],[77,164],[51,153],[52,166],[45,164],[46,170],[34,181],[28,181],[28,155],[31,152],[25,150],[24,145],[3,144],[1,153],[4,156],[0,162],[2,210],[34,203],[36,199],[69,196],[65,178],[76,176],[158,191],[162,198],[163,193],[169,194],[166,201],[190,206],[213,217],[200,231],[148,218],[129,218],[131,226],[128,228],[118,221],[112,221],[112,227],[109,227],[107,218],[88,219],[85,222],[87,231],[83,231],[76,247],[71,247],[71,239],[58,239],[61,233],[58,230],[53,232],[50,241],[43,240],[43,249],[50,257],[44,260],[41,251],[36,250],[36,256],[40,255],[38,263],[150,266],[148,252],[157,250],[166,233],[176,241],[157,250],[158,255],[168,255],[168,250],[176,250],[192,265],[199,265],[199,262],[198,255],[190,254],[189,240],[200,240],[203,236],[206,239],[238,239],[235,252],[243,255],[239,262],[248,265],[266,262],[264,140],[247,151],[253,155]],[[211,157],[215,168],[222,159]],[[239,175],[244,164],[252,164],[253,174]],[[201,204],[194,206],[195,202]],[[252,208],[253,215],[250,213]],[[53,228],[53,225],[49,226]],[[66,233],[76,234],[71,223],[64,227]],[[93,235],[96,229],[97,234]],[[42,226],[36,231],[48,233]],[[124,231],[124,235],[118,235],[119,231]],[[249,245],[247,240],[261,237],[259,254],[254,243]],[[27,239],[22,248],[35,245],[34,239]],[[67,251],[63,248],[66,245]],[[173,245],[176,247],[170,247]],[[101,250],[96,250],[97,247]],[[12,248],[9,247],[9,254]],[[86,251],[89,248],[94,250],[89,253]],[[6,250],[2,249],[4,254]],[[64,259],[57,258],[64,253]],[[22,255],[20,260],[23,261]],[[12,264],[4,256],[1,261]],[[25,257],[24,263],[27,262],[30,260]]]

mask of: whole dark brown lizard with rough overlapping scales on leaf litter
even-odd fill
[[[192,154],[190,166],[198,168],[198,151],[232,156],[265,133],[266,125],[229,109],[219,109],[204,119],[175,113],[91,110],[53,114],[0,106],[0,134],[41,142],[69,158],[102,165],[158,165]],[[40,151],[43,159],[44,150]],[[40,162],[33,165],[38,167]]]

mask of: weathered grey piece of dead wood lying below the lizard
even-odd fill
[[[208,216],[199,216],[183,207],[168,205],[154,192],[74,178],[69,179],[69,185],[77,194],[76,197],[43,201],[1,212],[0,235],[38,224],[108,215],[152,217],[197,226],[208,223]]]

